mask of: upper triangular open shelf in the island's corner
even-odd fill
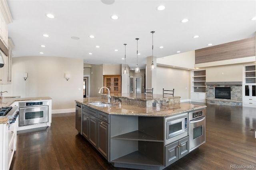
[[[148,135],[139,130],[129,132],[126,134],[121,134],[118,136],[113,136],[113,139],[122,139],[122,140],[141,140],[141,141],[151,141],[151,142],[164,142],[164,140],[155,138],[154,136]]]

